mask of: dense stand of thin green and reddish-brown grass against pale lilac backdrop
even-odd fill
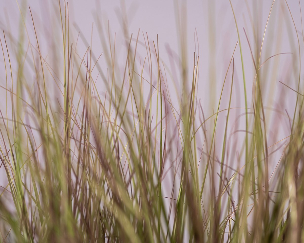
[[[188,68],[182,34],[181,85],[174,93],[168,83],[171,70],[161,61],[158,36],[155,41],[147,33],[141,37],[138,32],[135,41],[131,36],[120,72],[115,39],[109,35],[108,49],[99,57],[90,47],[80,55],[78,38],[71,41],[68,3],[58,1],[58,6],[62,46],[52,51],[62,59],[51,61],[62,63],[62,74],[41,54],[30,9],[35,43],[30,41],[29,26],[22,23],[17,42],[5,32],[0,39],[5,65],[1,87],[6,90],[1,97],[6,111],[0,110],[0,159],[7,181],[0,195],[1,242],[304,240],[301,73],[294,90],[294,114],[288,117],[290,135],[280,160],[272,161],[270,155],[279,150],[269,153],[275,144],[268,142],[270,109],[264,105],[261,83],[266,71],[260,72],[276,56],[261,59],[267,24],[258,50],[245,29],[247,43],[241,43],[243,32],[231,4],[238,43],[227,50],[231,58],[217,110],[205,117],[198,100],[199,53],[194,53],[193,66]],[[289,10],[287,2],[285,7]],[[268,20],[271,10],[272,6]],[[291,12],[290,17],[293,21]],[[300,48],[302,39],[297,37]],[[140,38],[146,48],[144,60],[136,56]],[[16,45],[16,53],[9,51],[8,44]],[[251,100],[247,100],[242,50],[247,44],[255,70]],[[301,67],[300,53],[299,49]],[[103,56],[107,74],[98,63]],[[235,59],[242,66],[236,66]],[[236,69],[243,72],[242,108],[232,107],[231,102]],[[98,80],[105,83],[102,93]],[[58,96],[53,97],[51,86],[58,87]],[[227,104],[222,102],[224,94]],[[173,96],[179,104],[174,104]],[[229,150],[232,109],[245,110],[246,117],[238,156]],[[223,113],[226,119],[220,120]],[[219,126],[224,128],[220,141]]]

